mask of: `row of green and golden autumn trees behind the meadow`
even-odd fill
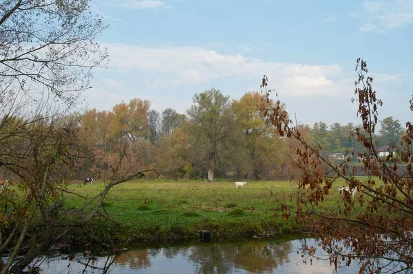
[[[117,172],[133,167],[154,168],[169,179],[290,179],[293,144],[277,135],[260,111],[262,102],[258,91],[231,100],[220,90],[209,89],[193,96],[185,114],[171,108],[160,113],[150,108],[149,101],[135,98],[111,111],[90,109],[65,115],[63,120],[76,127],[80,145],[93,159],[77,173],[78,179],[95,176],[105,181],[114,174],[111,167],[122,153],[128,161]],[[399,120],[386,117],[380,123],[379,134],[374,135],[376,146],[396,144],[403,135]],[[328,126],[321,121],[298,128],[308,144],[321,146],[325,155],[341,153],[355,161],[366,150],[350,137],[361,125]]]

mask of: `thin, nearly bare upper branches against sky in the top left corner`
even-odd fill
[[[91,68],[107,53],[94,40],[105,29],[88,0],[8,0],[0,3],[0,102],[55,98],[68,106],[89,88]],[[21,105],[20,105],[21,107]]]

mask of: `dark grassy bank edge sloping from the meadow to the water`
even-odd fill
[[[125,225],[104,218],[90,222],[87,227],[76,229],[71,242],[103,244],[106,247],[129,247],[131,245],[173,244],[200,240],[200,231],[211,232],[211,241],[248,240],[256,238],[282,238],[290,234],[304,233],[294,220],[229,220],[191,223],[191,225],[145,226]]]

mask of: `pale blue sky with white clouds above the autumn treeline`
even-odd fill
[[[89,109],[132,98],[178,113],[211,87],[239,100],[262,76],[295,122],[360,124],[357,58],[383,100],[379,119],[413,121],[413,0],[92,0],[109,25]],[[275,99],[275,94],[272,95]]]

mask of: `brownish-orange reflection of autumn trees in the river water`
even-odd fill
[[[146,249],[125,251],[116,258],[116,264],[131,269],[151,266],[151,258],[162,253],[172,259],[177,255],[194,263],[195,273],[231,273],[235,268],[254,273],[274,271],[279,265],[290,262],[291,242],[280,244],[268,242],[246,242],[242,244],[207,244],[195,247],[169,247],[167,249]]]

